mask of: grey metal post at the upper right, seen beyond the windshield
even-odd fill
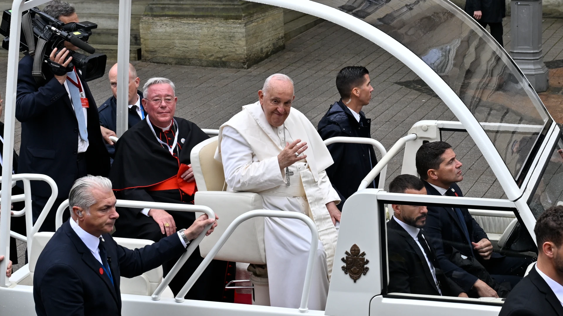
[[[537,92],[548,88],[542,51],[542,0],[511,0],[510,55]]]

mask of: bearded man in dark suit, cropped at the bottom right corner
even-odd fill
[[[563,206],[544,211],[534,232],[538,263],[508,295],[499,316],[563,316]]]

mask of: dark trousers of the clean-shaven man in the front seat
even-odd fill
[[[480,262],[495,281],[498,283],[509,282],[514,288],[524,277],[528,265],[534,261],[535,259],[528,257],[503,256],[502,258],[491,258]]]

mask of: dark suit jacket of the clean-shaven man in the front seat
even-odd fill
[[[440,195],[430,183],[424,181],[426,192],[428,195]],[[452,184],[458,196],[462,197],[463,193],[457,184]],[[452,207],[428,206],[428,216],[424,228],[426,236],[431,241],[432,246],[436,249],[436,256],[440,261],[440,266],[446,273],[446,276],[452,278],[465,291],[469,291],[473,284],[477,281],[477,277],[466,272],[462,268],[452,263],[449,258],[453,249],[459,250],[465,256],[472,256],[470,244],[461,228],[459,218]],[[487,238],[487,234],[477,224],[475,219],[469,214],[469,210],[461,209],[463,218],[467,226],[467,231],[471,238],[471,242],[479,242],[483,238]],[[501,256],[493,252],[493,256]]]

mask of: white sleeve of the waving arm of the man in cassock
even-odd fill
[[[221,135],[221,160],[229,188],[233,191],[258,192],[285,183],[278,156],[253,161],[252,147],[239,132],[226,126]]]

